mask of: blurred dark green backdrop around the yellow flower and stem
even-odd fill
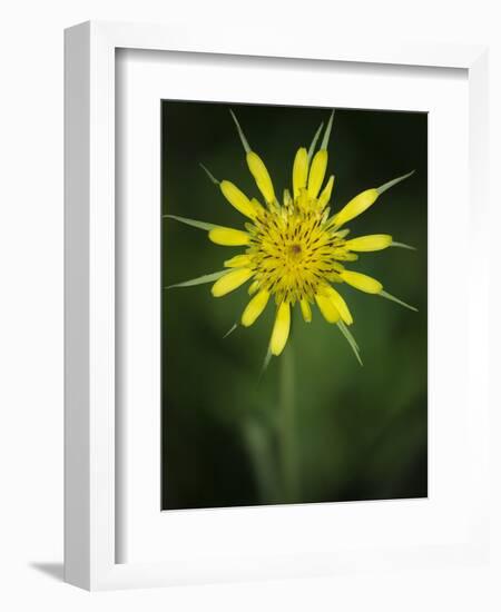
[[[328,109],[164,101],[163,213],[240,227],[244,218],[199,168],[258,196],[228,109],[282,194],[292,162]],[[413,313],[342,287],[364,366],[336,326],[315,308],[297,313],[296,502],[422,497],[428,494],[425,113],[336,109],[327,175],[338,210],[360,191],[412,169],[416,174],[352,220],[352,236],[387,233],[416,251],[361,254],[352,269],[380,279]],[[222,269],[242,249],[205,231],[163,221],[163,285]],[[249,329],[223,335],[248,302],[245,288],[215,299],[210,285],[164,290],[163,509],[279,503],[276,494],[278,359],[258,381],[274,308]],[[297,309],[297,308],[296,308]],[[278,481],[278,482],[277,482]]]

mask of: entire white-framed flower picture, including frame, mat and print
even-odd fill
[[[193,34],[66,32],[66,580],[484,562],[485,49]]]

